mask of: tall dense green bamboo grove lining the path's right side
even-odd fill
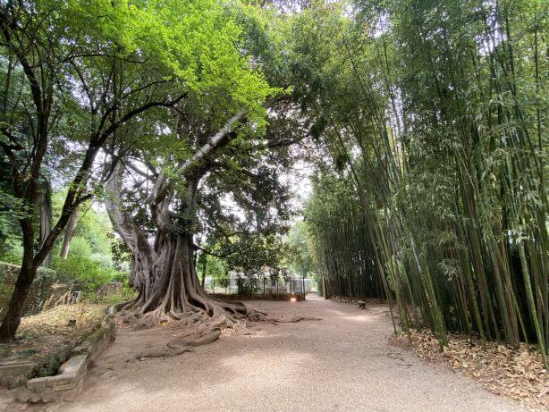
[[[293,30],[325,159],[306,222],[328,293],[387,295],[404,331],[441,345],[447,332],[536,343],[546,364],[547,4],[307,14]]]

